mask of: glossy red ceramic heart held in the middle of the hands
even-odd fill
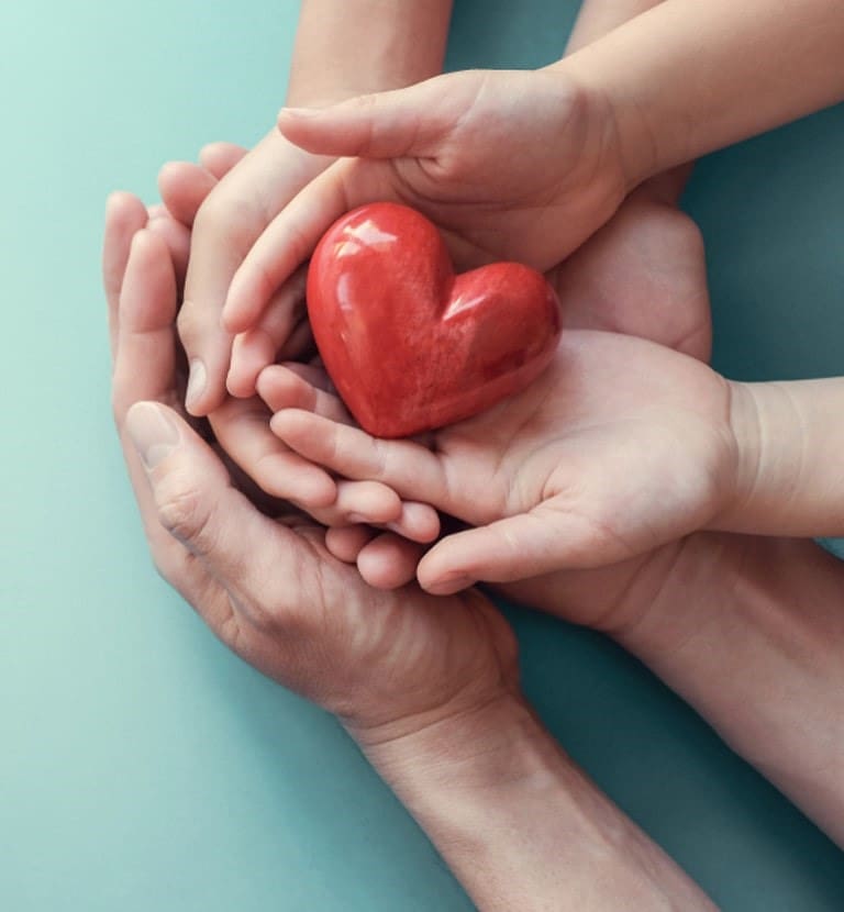
[[[560,332],[541,274],[495,263],[455,276],[436,227],[387,202],[349,212],[322,237],[308,313],[337,392],[380,437],[452,424],[518,392]]]

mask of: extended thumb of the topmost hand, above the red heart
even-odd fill
[[[406,89],[359,96],[327,108],[282,108],[278,129],[291,143],[321,155],[433,156],[470,107],[476,94],[467,91],[473,77],[475,74],[436,76]]]

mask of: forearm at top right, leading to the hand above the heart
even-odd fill
[[[631,186],[844,97],[839,0],[665,0],[564,58],[611,103]]]

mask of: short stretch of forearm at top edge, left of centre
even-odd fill
[[[288,104],[327,104],[442,70],[452,0],[303,0]]]

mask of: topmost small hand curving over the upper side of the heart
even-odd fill
[[[223,320],[245,333],[230,374],[238,394],[274,359],[265,344],[273,294],[348,210],[378,201],[417,209],[442,232],[458,273],[496,260],[545,271],[630,189],[606,101],[562,71],[451,74],[284,111],[279,124],[309,152],[346,157],[284,209],[232,280]]]

